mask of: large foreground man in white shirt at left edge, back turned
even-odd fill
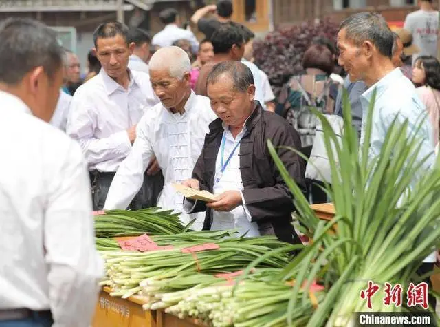
[[[0,326],[89,326],[104,269],[87,168],[78,144],[48,124],[63,52],[30,19],[4,21],[0,39]]]

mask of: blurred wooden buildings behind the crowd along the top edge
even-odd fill
[[[87,52],[93,45],[93,32],[103,21],[118,19],[155,34],[162,29],[159,12],[175,8],[181,20],[189,19],[197,8],[215,0],[0,0],[0,19],[32,17],[58,31],[66,48],[78,54],[86,67]],[[403,23],[408,12],[416,10],[417,0],[233,0],[232,19],[262,34],[281,25],[331,17],[340,21],[353,12],[381,12],[394,25]]]

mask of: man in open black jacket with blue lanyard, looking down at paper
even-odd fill
[[[186,198],[184,209],[207,210],[203,229],[237,228],[248,236],[276,235],[300,243],[291,224],[292,194],[266,144],[270,139],[275,147],[301,149],[300,138],[283,118],[264,111],[254,94],[252,72],[243,63],[225,61],[210,72],[208,96],[219,118],[210,124],[192,179],[182,184],[214,193],[216,199]],[[285,148],[277,151],[290,176],[305,188],[300,156]]]

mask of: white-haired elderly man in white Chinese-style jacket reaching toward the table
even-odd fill
[[[183,197],[171,183],[190,178],[208,125],[217,118],[209,99],[196,96],[191,90],[191,63],[184,50],[161,48],[153,54],[149,66],[151,83],[161,103],[149,109],[137,125],[133,149],[116,173],[105,209],[126,209],[142,185],[143,173],[155,154],[165,176],[158,205],[181,212]],[[184,224],[194,218],[197,221],[192,229],[201,229],[204,214],[180,216]]]

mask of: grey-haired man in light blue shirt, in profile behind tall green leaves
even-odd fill
[[[421,141],[417,158],[419,161],[428,157],[421,167],[421,172],[432,169],[435,163],[434,142],[426,107],[419,100],[415,87],[395,68],[391,61],[394,36],[380,14],[360,12],[353,14],[340,25],[338,48],[339,64],[350,76],[351,82],[364,81],[369,87],[361,96],[362,119],[360,144],[364,143],[366,117],[376,89],[376,101],[373,108],[373,121],[369,147],[369,160],[380,155],[386,133],[397,117],[398,123],[408,120],[408,137],[417,133]],[[424,116],[423,116],[424,115]],[[421,124],[421,128],[418,129]],[[413,183],[417,182],[416,174]],[[432,253],[423,261],[419,275],[432,271],[436,255]],[[429,278],[426,280],[429,285]],[[434,298],[430,298],[433,305]],[[434,306],[435,308],[435,306]]]

